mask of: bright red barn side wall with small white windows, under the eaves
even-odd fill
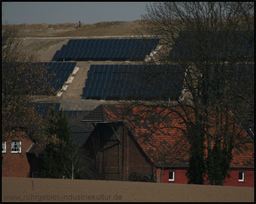
[[[175,172],[175,181],[169,181],[169,171]],[[239,172],[245,172],[245,181],[238,181]],[[176,184],[187,184],[188,179],[185,176],[185,169],[157,169],[157,179],[156,182],[161,181],[163,183],[176,183]],[[204,178],[206,180],[206,178]],[[206,184],[207,182],[205,182]],[[254,187],[254,169],[232,169],[230,172],[230,178],[226,179],[225,186],[243,186],[243,187]]]

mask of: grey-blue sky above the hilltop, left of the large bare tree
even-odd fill
[[[85,23],[133,21],[149,2],[4,2],[2,23]]]

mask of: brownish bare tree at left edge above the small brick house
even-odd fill
[[[44,128],[43,119],[35,112],[35,98],[52,101],[48,67],[37,65],[36,54],[24,54],[19,29],[16,25],[2,24],[2,139],[10,138],[10,131],[25,130],[38,136]],[[46,97],[48,95],[48,97]],[[15,133],[13,136],[15,137]],[[9,135],[9,136],[8,136]],[[27,134],[28,136],[28,134]]]

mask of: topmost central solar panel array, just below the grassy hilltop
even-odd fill
[[[53,61],[143,61],[159,39],[71,39]]]

